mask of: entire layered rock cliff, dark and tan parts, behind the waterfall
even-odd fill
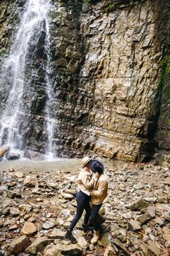
[[[15,3],[20,7],[21,1]],[[9,6],[12,4],[11,0]],[[53,0],[52,4],[53,145],[58,156],[95,152],[135,162],[148,159],[156,143],[169,150],[169,118],[162,124],[163,116],[169,114],[169,80],[168,75],[161,79],[166,68],[160,65],[168,54],[167,45],[163,45],[165,34],[160,33],[165,30],[160,14],[168,2]],[[22,9],[18,7],[16,12]],[[9,20],[4,10],[2,27],[12,23],[16,15]],[[9,48],[7,29],[2,30],[1,43],[5,39]],[[34,100],[23,138],[26,155],[30,149],[43,153],[47,138],[43,129],[45,70],[40,63],[45,54],[41,44],[37,48],[42,51],[31,83]],[[30,75],[31,71],[26,77]]]

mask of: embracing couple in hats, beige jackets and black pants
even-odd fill
[[[85,233],[93,227],[94,233],[91,239],[91,244],[96,244],[100,237],[100,225],[97,220],[97,214],[104,199],[107,197],[108,181],[107,175],[104,173],[104,165],[97,159],[84,157],[82,159],[82,170],[77,178],[77,212],[74,219],[66,232],[66,238],[69,238],[72,243],[76,239],[72,235],[77,222],[82,217],[85,210],[84,224],[82,225]]]

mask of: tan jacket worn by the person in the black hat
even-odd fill
[[[91,204],[99,205],[103,203],[104,199],[107,197],[108,190],[108,178],[105,173],[102,173],[97,181],[94,182],[93,190],[91,191]]]

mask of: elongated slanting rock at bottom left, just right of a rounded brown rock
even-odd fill
[[[37,255],[38,252],[42,252],[42,250],[50,243],[53,243],[53,239],[48,239],[46,237],[36,238],[35,241],[26,248],[25,252],[30,253],[31,255]]]

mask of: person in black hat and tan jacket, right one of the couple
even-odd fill
[[[90,220],[88,222],[88,225],[93,225],[94,229],[93,238],[91,239],[90,243],[96,244],[98,238],[100,237],[100,225],[97,221],[97,215],[104,199],[107,197],[108,179],[107,175],[104,173],[104,165],[101,162],[93,159],[90,161],[89,165],[92,172],[97,173],[96,175],[98,176],[96,181],[94,181],[93,190],[90,192],[92,211],[90,214]]]

